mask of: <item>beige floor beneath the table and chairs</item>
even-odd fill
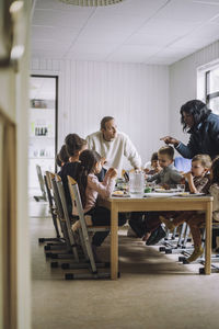
[[[161,254],[123,230],[118,281],[65,281],[37,241],[54,236],[46,204],[31,202],[30,214],[33,329],[219,327],[219,274],[199,275],[198,265],[177,263],[176,256]],[[100,257],[110,259],[108,240]]]

